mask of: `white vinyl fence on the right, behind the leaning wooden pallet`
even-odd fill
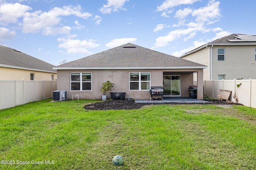
[[[237,90],[237,84],[241,86]],[[194,82],[196,85],[197,82]],[[232,96],[236,92],[238,103],[244,106],[256,108],[256,79],[248,80],[204,80],[204,94],[209,98],[217,98],[219,90],[232,91],[229,100],[232,101]]]

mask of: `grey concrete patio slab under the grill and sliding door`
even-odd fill
[[[164,100],[143,100],[135,99],[136,103],[210,103],[204,100],[192,99],[192,98],[164,98]]]

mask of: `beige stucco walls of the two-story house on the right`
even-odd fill
[[[182,57],[182,59],[208,66],[204,69],[203,80],[211,79],[210,70],[212,70],[212,80],[218,80],[218,75],[225,75],[226,80],[256,79],[255,45],[214,45],[212,52],[211,47],[209,45],[208,48],[205,47]],[[218,61],[218,48],[225,48],[225,61]],[[210,55],[212,55],[212,68],[209,63]]]

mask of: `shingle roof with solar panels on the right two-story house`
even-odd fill
[[[208,46],[212,45],[256,45],[256,35],[248,35],[248,34],[231,34],[225,37],[222,37],[220,39],[216,39],[210,43],[207,43],[205,45],[202,45],[201,47],[198,47],[196,49],[193,49],[192,51],[189,51],[185,53],[184,55],[180,57],[185,57],[186,55],[189,55],[191,53],[195,53],[196,51],[199,51],[201,49],[204,49]]]

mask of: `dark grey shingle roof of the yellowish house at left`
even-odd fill
[[[0,66],[56,73],[54,65],[3,45],[0,45]]]

